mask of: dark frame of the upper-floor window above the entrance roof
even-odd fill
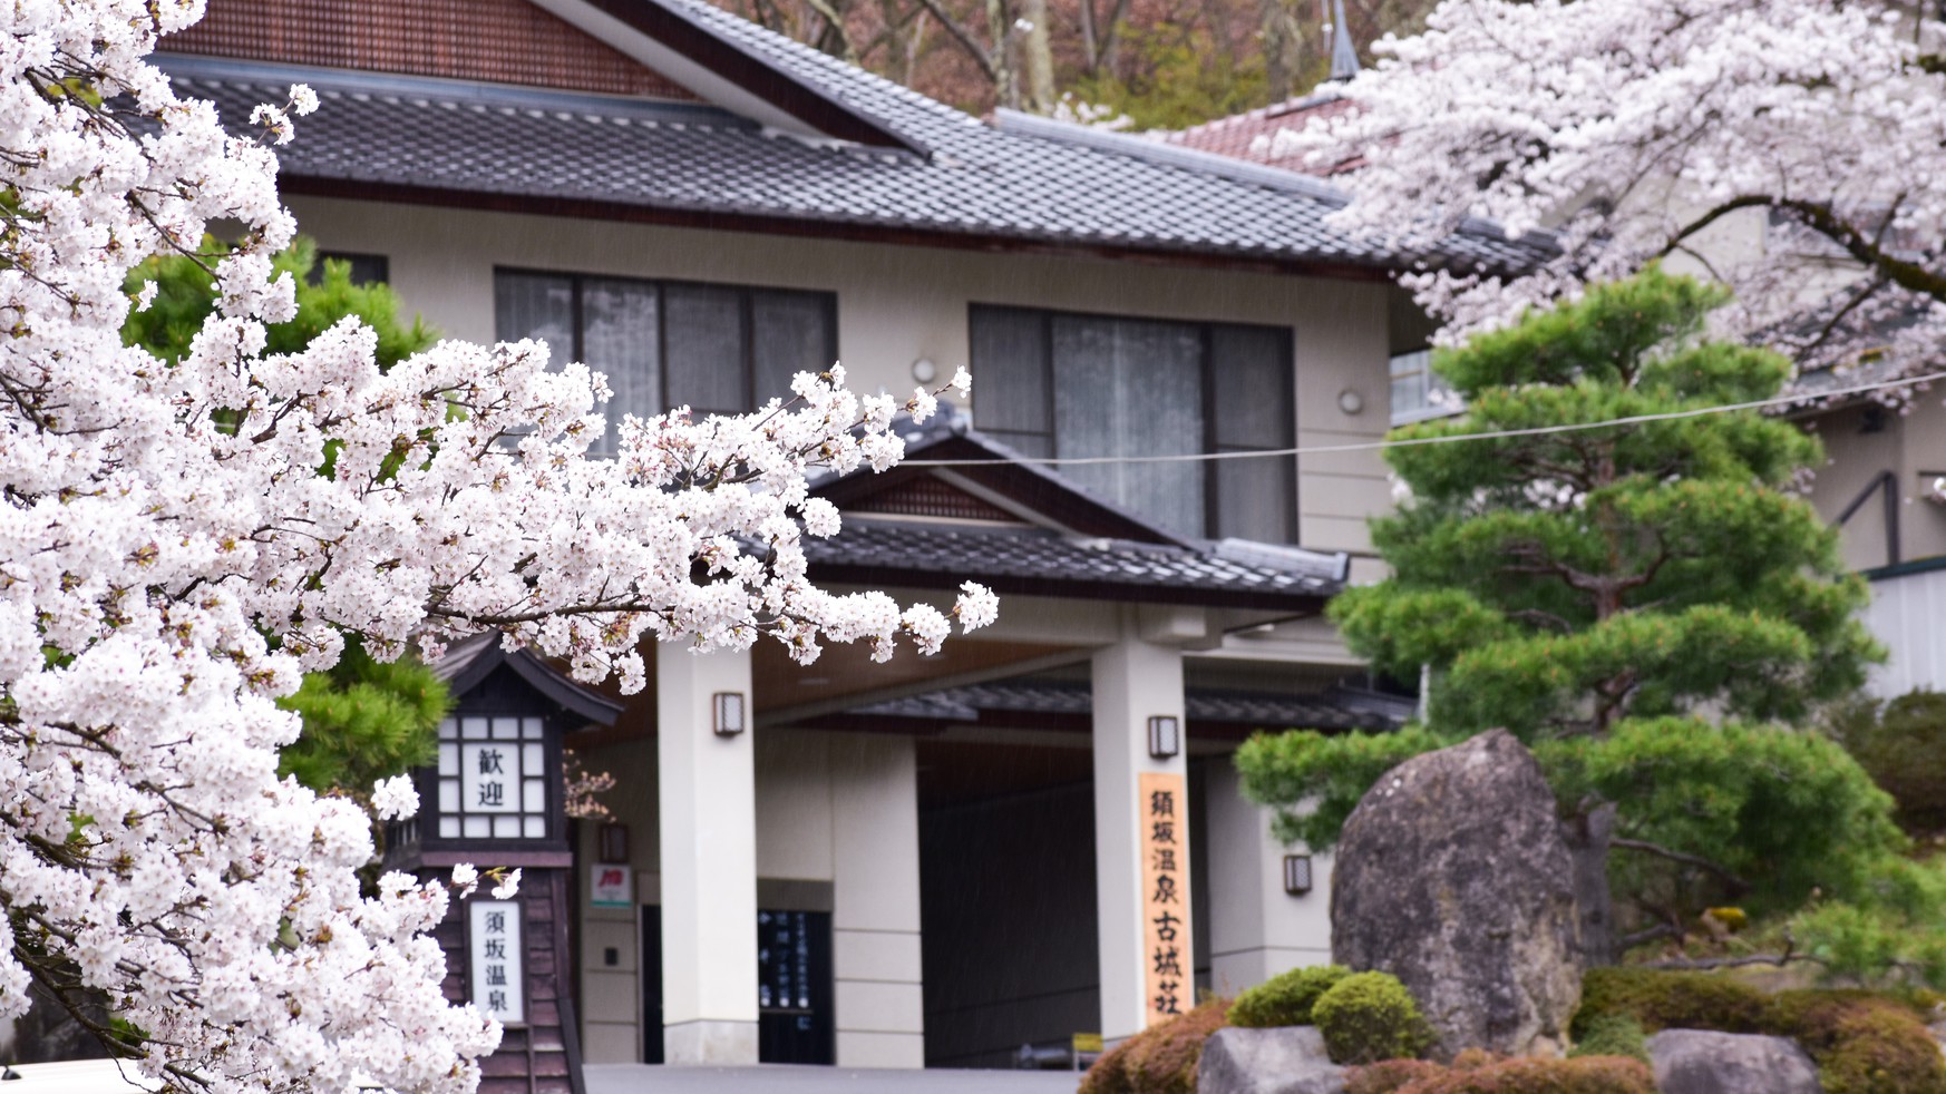
[[[1070,310],[1070,308],[1035,308],[1035,306],[1024,306],[1024,304],[994,304],[994,302],[985,302],[985,300],[971,300],[971,302],[967,302],[967,364],[971,368],[975,368],[975,372],[979,368],[979,362],[973,360],[973,345],[975,345],[973,329],[977,325],[977,315],[983,310],[985,311],[996,311],[996,313],[1029,313],[1029,315],[1033,315],[1037,319],[1037,325],[1039,325],[1037,337],[1039,337],[1039,343],[1041,343],[1041,354],[1039,354],[1041,356],[1041,362],[1039,362],[1041,364],[1041,383],[1045,385],[1047,399],[1049,399],[1049,403],[1047,403],[1047,430],[1045,432],[1033,432],[1033,430],[1018,430],[1018,428],[992,428],[992,426],[981,424],[981,420],[979,420],[979,395],[973,397],[973,407],[971,407],[971,411],[973,411],[973,426],[977,430],[981,430],[983,434],[992,436],[996,440],[1002,440],[1002,442],[1008,442],[1010,438],[1016,438],[1016,436],[1043,438],[1045,444],[1047,444],[1047,459],[1051,459],[1051,463],[1047,463],[1047,467],[1051,467],[1053,471],[1061,469],[1061,438],[1059,438],[1059,428],[1055,426],[1055,405],[1053,405],[1053,399],[1059,397],[1057,395],[1059,368],[1055,364],[1055,319],[1109,321],[1109,323],[1158,323],[1158,325],[1173,325],[1173,327],[1193,329],[1195,335],[1197,335],[1197,343],[1201,346],[1199,348],[1199,354],[1201,354],[1201,362],[1199,362],[1199,374],[1201,376],[1199,376],[1199,382],[1201,382],[1201,399],[1203,399],[1203,405],[1199,407],[1201,436],[1197,438],[1197,444],[1199,444],[1199,452],[1203,456],[1216,456],[1216,454],[1222,454],[1222,452],[1275,452],[1275,448],[1247,448],[1247,446],[1236,446],[1236,444],[1230,444],[1230,446],[1220,444],[1218,442],[1218,430],[1216,430],[1216,424],[1212,420],[1212,415],[1214,415],[1214,409],[1216,409],[1216,362],[1214,362],[1214,333],[1216,333],[1216,329],[1220,329],[1220,327],[1236,327],[1236,329],[1247,329],[1247,331],[1271,331],[1271,333],[1275,333],[1277,339],[1279,339],[1279,360],[1282,362],[1282,368],[1279,368],[1279,376],[1280,376],[1280,380],[1284,383],[1284,389],[1282,389],[1280,395],[1284,397],[1284,405],[1288,407],[1288,413],[1290,413],[1288,422],[1286,422],[1286,428],[1288,428],[1286,436],[1290,438],[1290,446],[1292,448],[1296,446],[1296,432],[1298,432],[1298,378],[1296,378],[1296,366],[1298,364],[1296,362],[1298,362],[1298,356],[1296,356],[1296,331],[1292,327],[1288,327],[1288,325],[1279,325],[1279,323],[1232,323],[1232,321],[1222,321],[1222,319],[1181,319],[1181,317],[1171,317],[1171,315],[1129,315],[1129,313],[1113,313],[1113,311],[1080,311],[1080,310]],[[1072,456],[1072,457],[1074,459],[1084,459],[1084,456]],[[1263,457],[1263,459],[1271,459],[1271,457]],[[1284,516],[1284,537],[1279,543],[1292,543],[1294,545],[1294,543],[1298,543],[1298,529],[1302,526],[1302,514],[1300,514],[1302,479],[1298,475],[1298,457],[1296,456],[1284,456],[1282,459],[1286,459],[1288,467],[1290,467],[1290,496],[1288,496],[1290,504],[1288,504],[1288,508],[1282,514]],[[1222,531],[1222,489],[1220,489],[1220,479],[1218,479],[1218,469],[1220,469],[1222,463],[1224,463],[1222,459],[1205,459],[1203,461],[1203,529],[1195,535],[1199,539],[1218,539],[1218,537],[1224,535],[1224,531]],[[1144,522],[1152,522],[1146,514],[1138,512],[1136,516],[1140,516]]]

